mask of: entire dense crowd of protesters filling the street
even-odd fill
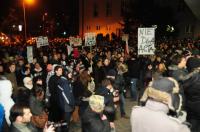
[[[129,52],[116,39],[69,56],[65,44],[34,47],[31,63],[26,46],[1,47],[0,129],[67,132],[80,121],[83,132],[114,132],[118,108],[129,119],[129,91],[139,105],[132,132],[199,132],[199,41],[158,41],[149,56],[129,44]]]

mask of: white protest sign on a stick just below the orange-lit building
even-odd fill
[[[85,46],[94,46],[96,44],[95,33],[85,33]]]

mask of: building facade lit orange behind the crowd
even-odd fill
[[[120,34],[125,0],[79,0],[79,35]]]

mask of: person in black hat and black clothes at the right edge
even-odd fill
[[[189,74],[185,76],[183,88],[185,92],[187,121],[192,124],[191,131],[200,131],[200,59],[190,57],[186,63]]]

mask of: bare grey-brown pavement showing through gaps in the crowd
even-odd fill
[[[135,104],[136,102],[130,101],[129,98],[126,99],[125,110],[127,116],[130,117],[131,109]],[[115,125],[116,125],[116,132],[131,132],[130,118],[128,119],[121,118],[119,113],[119,108],[117,109],[117,120],[115,121]],[[73,127],[71,132],[81,132],[80,124],[78,124],[78,126],[76,126],[75,128]]]

